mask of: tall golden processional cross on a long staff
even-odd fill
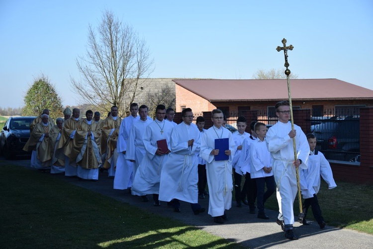
[[[289,75],[290,75],[290,70],[289,70],[289,63],[287,62],[287,50],[293,50],[293,45],[290,45],[290,46],[286,46],[286,39],[283,38],[282,39],[282,44],[283,46],[280,47],[278,46],[276,48],[277,51],[281,51],[283,50],[283,53],[285,55],[285,64],[284,64],[284,67],[286,67],[286,70],[285,70],[285,75],[286,75],[286,79],[287,79],[287,93],[288,93],[288,96],[289,96],[289,106],[290,106],[290,121],[291,121],[291,129],[294,129],[294,120],[293,120],[293,107],[292,107],[292,104],[291,104],[291,93],[290,93],[290,78],[289,78]],[[296,158],[296,144],[295,144],[295,137],[293,137],[293,149],[294,149],[294,160],[296,161],[297,158]],[[299,171],[298,171],[298,167],[295,168],[296,170],[296,183],[298,184],[298,200],[299,200],[299,217],[300,218],[304,218],[304,214],[303,214],[303,208],[302,208],[302,199],[301,199],[301,195],[300,195],[300,185],[299,185]]]

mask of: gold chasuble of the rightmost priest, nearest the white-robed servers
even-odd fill
[[[102,165],[103,168],[110,168],[110,163],[107,162],[113,153],[113,150],[116,148],[116,141],[119,135],[121,119],[117,117],[114,120],[111,116],[106,118],[101,123],[101,154],[105,154],[105,162]],[[115,128],[113,133],[110,135],[111,129]]]

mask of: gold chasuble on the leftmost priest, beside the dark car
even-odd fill
[[[51,166],[51,160],[53,156],[53,139],[46,137],[44,134],[50,134],[53,128],[53,124],[43,125],[43,123],[36,124],[30,134],[30,138],[23,147],[25,151],[36,150],[37,158],[41,161],[44,167]],[[39,141],[41,136],[44,135],[43,140]]]

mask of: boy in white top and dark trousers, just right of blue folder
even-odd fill
[[[241,163],[239,161],[241,151],[242,151],[242,143],[245,138],[249,137],[250,134],[245,131],[247,126],[247,120],[245,117],[239,117],[237,119],[237,131],[235,131],[232,136],[234,142],[236,144],[236,153],[234,154],[232,160],[232,168],[234,168],[234,190],[235,190],[235,199],[236,199],[236,206],[241,208],[241,200],[244,202],[246,201],[246,189],[243,189],[241,192],[241,180],[242,180],[242,171],[241,171]]]

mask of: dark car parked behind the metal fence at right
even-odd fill
[[[360,117],[323,120],[312,127],[316,149],[327,159],[360,161]]]

